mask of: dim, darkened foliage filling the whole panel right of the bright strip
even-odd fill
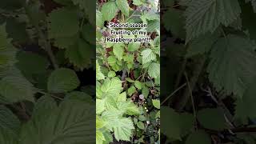
[[[161,6],[161,142],[256,143],[255,1]]]

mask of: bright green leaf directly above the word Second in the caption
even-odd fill
[[[118,12],[118,6],[115,2],[109,1],[102,6],[102,18],[103,21],[110,21],[115,17]]]

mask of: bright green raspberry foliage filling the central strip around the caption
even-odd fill
[[[159,143],[158,1],[97,2],[97,143]],[[151,42],[110,43],[107,22],[147,23]],[[130,35],[130,37],[138,37]],[[114,138],[112,137],[114,135]]]

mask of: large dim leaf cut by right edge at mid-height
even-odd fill
[[[210,82],[217,90],[242,98],[244,91],[256,76],[254,42],[236,35],[218,39],[210,54],[207,68]]]

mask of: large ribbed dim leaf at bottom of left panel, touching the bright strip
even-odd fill
[[[78,144],[95,142],[94,106],[78,100],[63,101],[40,122],[32,119],[21,130],[20,144]]]

